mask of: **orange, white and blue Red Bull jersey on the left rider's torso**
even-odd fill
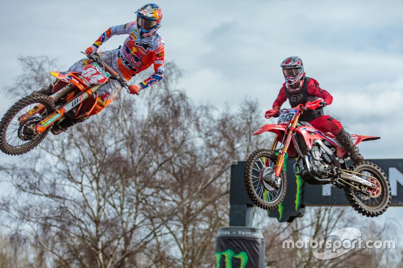
[[[140,83],[142,88],[160,81],[164,76],[164,38],[158,31],[140,38],[136,22],[112,26],[95,41],[99,47],[114,35],[129,35],[118,49],[117,65],[126,80],[154,64],[154,73]]]

